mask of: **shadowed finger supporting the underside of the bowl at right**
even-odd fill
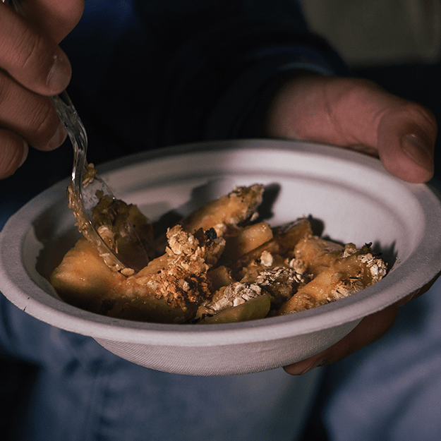
[[[315,367],[335,363],[354,354],[364,346],[380,339],[394,325],[398,309],[399,306],[392,305],[378,313],[368,315],[346,337],[330,348],[298,363],[285,366],[284,370],[291,375],[303,375]]]

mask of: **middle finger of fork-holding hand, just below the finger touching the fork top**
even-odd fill
[[[0,126],[40,150],[59,147],[66,131],[49,98],[24,89],[0,71]]]

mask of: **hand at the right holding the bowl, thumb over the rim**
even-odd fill
[[[433,176],[437,133],[433,114],[367,80],[301,73],[274,97],[266,128],[268,135],[277,138],[341,145],[375,155],[391,174],[405,181],[420,183]],[[389,308],[363,318],[337,344],[284,369],[300,375],[375,342],[392,327],[399,307],[421,296],[436,279]]]

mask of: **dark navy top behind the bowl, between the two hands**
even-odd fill
[[[64,47],[71,95],[106,159],[255,136],[286,72],[345,73],[292,0],[90,0]]]

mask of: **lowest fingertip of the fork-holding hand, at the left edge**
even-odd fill
[[[0,179],[11,176],[27,156],[28,143],[16,133],[0,129]]]

